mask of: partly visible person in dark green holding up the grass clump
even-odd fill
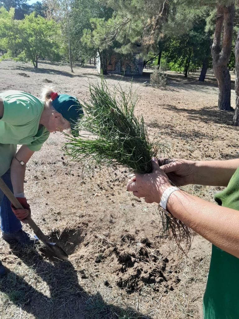
[[[167,164],[166,164],[167,163]],[[158,203],[212,245],[203,299],[204,319],[239,318],[239,159],[152,160],[150,174],[135,174],[127,189],[146,203]],[[188,184],[226,186],[214,203],[172,187]]]

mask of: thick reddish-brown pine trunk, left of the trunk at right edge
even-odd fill
[[[217,5],[216,26],[211,48],[213,71],[219,88],[218,109],[226,111],[233,110],[231,108],[231,77],[227,64],[231,55],[234,13],[234,3],[228,7]]]

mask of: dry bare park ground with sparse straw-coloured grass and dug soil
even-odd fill
[[[93,66],[75,67],[10,60],[0,63],[0,91],[23,90],[40,96],[52,81],[59,93],[86,98]],[[21,74],[20,74],[21,73]],[[114,85],[120,76],[107,76]],[[47,79],[47,80],[46,80]],[[217,110],[217,87],[209,76],[199,83],[168,74],[166,90],[134,78],[150,136],[166,139],[173,157],[228,159],[238,157],[238,129],[233,113]],[[131,78],[122,78],[127,88]],[[235,96],[232,92],[232,105]],[[30,160],[25,179],[33,219],[59,240],[69,261],[48,258],[44,247],[19,249],[0,241],[0,259],[9,269],[0,280],[1,318],[202,318],[202,296],[211,245],[195,236],[188,255],[174,241],[163,240],[157,206],[126,191],[124,168],[82,177],[82,167],[61,150],[64,137],[53,133]],[[189,186],[186,190],[213,201],[220,188]],[[196,212],[195,212],[196,213]],[[24,226],[28,228],[28,226]]]

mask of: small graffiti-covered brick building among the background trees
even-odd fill
[[[96,69],[100,73],[99,56],[97,56],[96,62]],[[142,75],[143,59],[138,59],[135,55],[131,58],[123,58],[112,55],[111,58],[107,60],[107,72],[109,74]]]

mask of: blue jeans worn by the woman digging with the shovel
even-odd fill
[[[1,176],[6,185],[13,191],[11,184],[11,174],[10,169]],[[8,198],[0,189],[0,220],[1,220],[1,230],[5,234],[16,233],[18,230],[22,229],[22,224],[19,219],[14,215],[11,210],[11,203]]]

